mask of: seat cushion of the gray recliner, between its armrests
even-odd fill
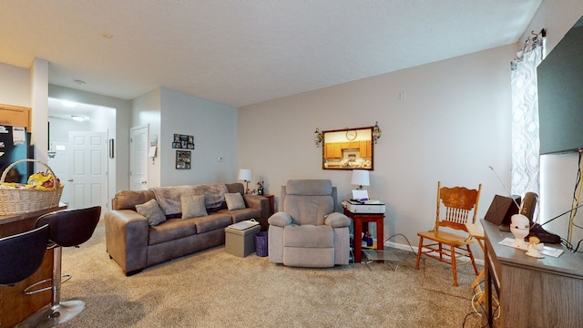
[[[330,226],[311,224],[289,225],[283,229],[283,247],[334,248],[334,233]]]

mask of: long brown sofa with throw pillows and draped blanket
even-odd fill
[[[224,190],[217,193],[217,187]],[[148,200],[160,201],[159,190],[169,191],[172,188],[119,191],[111,201],[112,210],[104,216],[107,253],[127,276],[141,272],[150,265],[223,244],[225,228],[241,220],[258,220],[261,229],[267,230],[269,200],[259,195],[244,194],[240,183],[179,186],[177,189],[191,188],[196,194],[205,194],[206,200],[219,201],[205,204],[207,215],[197,218],[182,219],[181,213],[168,213],[160,206],[166,220],[156,226],[149,225],[148,219],[136,210],[136,205]],[[245,208],[229,210],[222,194],[226,192],[240,193]]]

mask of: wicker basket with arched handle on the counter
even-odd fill
[[[56,179],[55,172],[46,163],[36,159],[20,159],[10,164],[2,173],[0,182],[4,182],[6,174],[16,164],[22,162],[36,162],[46,166],[55,179],[52,190],[8,189],[0,188],[0,215],[30,213],[36,210],[45,210],[58,205],[63,193],[63,186]]]

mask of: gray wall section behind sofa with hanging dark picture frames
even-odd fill
[[[162,186],[236,181],[237,108],[165,87],[161,88],[161,108]],[[175,133],[194,136],[191,169],[175,169]]]

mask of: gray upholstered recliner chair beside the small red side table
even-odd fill
[[[269,218],[269,258],[288,266],[348,264],[352,220],[335,212],[329,179],[291,179],[281,186],[281,211]]]

